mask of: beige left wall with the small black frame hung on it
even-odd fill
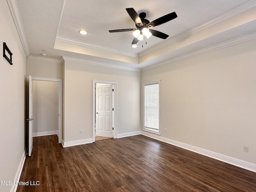
[[[1,1],[0,25],[0,181],[13,182],[25,152],[26,55],[6,1]],[[3,42],[13,65],[2,56]],[[0,191],[12,187],[0,185]]]

